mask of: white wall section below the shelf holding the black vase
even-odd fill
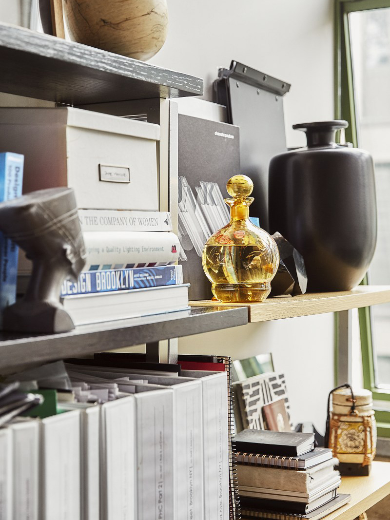
[[[250,323],[179,339],[179,352],[244,359],[272,353],[284,372],[294,423],[313,421],[324,432],[326,400],[333,388],[333,315]]]

